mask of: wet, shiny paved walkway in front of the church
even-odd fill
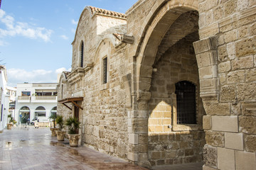
[[[122,159],[110,157],[87,147],[69,147],[68,140],[58,142],[49,128],[13,128],[0,133],[0,169],[125,169],[146,170]],[[158,166],[161,170],[198,170],[202,164]]]

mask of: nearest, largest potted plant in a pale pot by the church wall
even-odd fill
[[[70,141],[70,147],[78,147],[78,140],[80,134],[78,134],[78,129],[80,128],[80,122],[78,118],[68,118],[65,122],[68,126],[68,138]]]

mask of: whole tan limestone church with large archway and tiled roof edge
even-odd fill
[[[58,85],[80,145],[153,167],[256,167],[256,1],[87,6]]]

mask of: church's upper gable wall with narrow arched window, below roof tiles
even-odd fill
[[[80,67],[80,44],[84,42],[84,61],[83,65],[93,62],[93,57],[97,50],[97,46],[100,44],[102,38],[109,33],[109,29],[112,29],[112,33],[126,33],[127,23],[125,18],[113,18],[110,16],[102,16],[91,14],[90,8],[86,7],[82,11],[80,20],[78,22],[78,28],[75,33],[75,40],[73,41],[73,59],[72,69]],[[111,33],[111,34],[112,34]]]

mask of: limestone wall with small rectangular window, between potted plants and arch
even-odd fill
[[[94,67],[85,73],[82,121],[85,146],[107,154],[127,157],[126,92],[122,81],[125,74],[124,48],[114,48],[105,40]],[[108,81],[102,84],[102,58],[107,57]]]

